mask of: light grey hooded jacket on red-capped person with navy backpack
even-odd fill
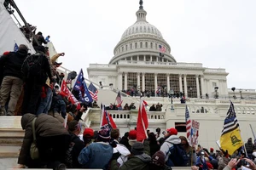
[[[171,135],[169,138],[166,139],[166,141],[164,142],[164,144],[161,145],[160,150],[165,154],[166,156],[166,160],[168,160],[169,156],[170,156],[170,152],[169,152],[169,148],[171,148],[173,146],[173,144],[180,144],[181,143],[181,139],[179,139],[177,137],[177,135]]]

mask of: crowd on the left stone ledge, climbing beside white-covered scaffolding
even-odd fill
[[[30,49],[20,44],[17,51],[4,52],[0,57],[1,116],[39,115],[48,113],[50,108],[63,118],[67,113],[75,114],[78,105],[71,103],[68,96],[61,93],[61,82],[65,76],[57,71],[62,64],[57,59],[65,53],[49,56],[49,49],[42,45],[47,42],[49,37],[44,38],[39,31],[32,38],[36,54],[30,54]],[[79,99],[78,93],[75,90],[72,92]],[[81,105],[98,107],[96,102]]]

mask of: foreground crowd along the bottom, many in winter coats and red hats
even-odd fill
[[[202,148],[200,144],[190,146],[184,136],[178,136],[177,129],[166,130],[164,137],[147,131],[148,138],[137,141],[137,129],[126,132],[120,138],[119,129],[102,127],[94,131],[83,129],[79,116],[86,110],[84,106],[75,119],[63,126],[63,120],[47,114],[38,116],[27,113],[21,118],[25,138],[18,159],[21,168],[53,167],[100,168],[103,170],[171,170],[172,167],[191,167],[192,169],[232,170],[256,169],[256,148],[252,139],[233,155],[224,150]],[[52,112],[52,111],[49,111]],[[35,123],[33,124],[33,120]],[[33,126],[39,156],[31,151]],[[247,152],[245,152],[247,151]]]

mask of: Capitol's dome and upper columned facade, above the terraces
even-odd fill
[[[90,81],[119,90],[155,92],[162,88],[174,94],[182,92],[187,98],[229,94],[225,69],[177,62],[161,32],[146,20],[142,3],[136,15],[137,21],[125,30],[109,63],[90,64],[87,68]],[[165,49],[162,55],[160,47]]]

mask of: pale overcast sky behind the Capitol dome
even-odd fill
[[[139,0],[15,0],[27,22],[50,35],[66,55],[63,66],[84,73],[108,64]],[[255,0],[144,0],[147,20],[171,46],[177,62],[225,68],[228,88],[255,88]]]

